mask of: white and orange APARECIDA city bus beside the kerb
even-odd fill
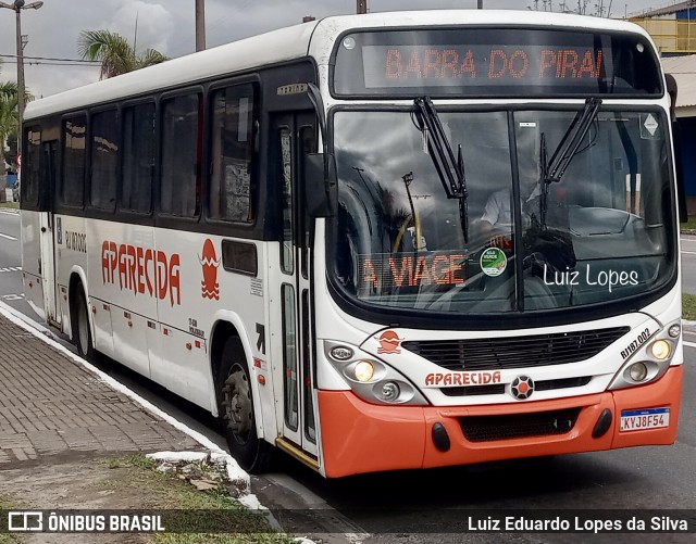
[[[249,471],[672,444],[668,90],[633,24],[456,10],[47,97],[23,126],[26,298],[217,416]]]

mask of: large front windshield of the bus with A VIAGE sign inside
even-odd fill
[[[562,177],[545,179],[579,111],[438,106],[461,146],[465,203],[443,187],[414,110],[336,112],[334,284],[362,305],[449,315],[577,307],[664,286],[675,263],[667,118],[602,106]]]

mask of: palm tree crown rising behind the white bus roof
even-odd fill
[[[77,53],[86,61],[101,62],[100,79],[167,60],[156,49],[136,53],[135,48],[123,36],[111,30],[83,30],[77,40]]]

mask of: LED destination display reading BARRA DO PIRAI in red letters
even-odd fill
[[[555,85],[599,79],[604,51],[545,46],[364,46],[366,88]]]

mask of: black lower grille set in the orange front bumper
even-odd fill
[[[566,434],[575,427],[580,408],[505,416],[462,417],[459,422],[469,442]]]

